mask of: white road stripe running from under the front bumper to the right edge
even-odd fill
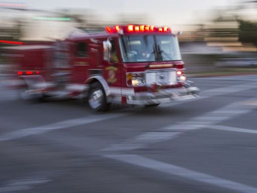
[[[161,106],[162,107],[172,107],[172,106],[180,105],[183,103],[188,103],[191,101],[208,99],[208,98],[211,98],[214,96],[225,95],[225,94],[229,94],[229,93],[240,92],[240,91],[250,90],[250,89],[254,89],[254,88],[257,88],[257,84],[255,82],[253,82],[253,83],[251,82],[251,83],[247,83],[247,84],[236,84],[233,86],[225,86],[225,87],[213,88],[213,89],[203,90],[203,91],[200,90],[200,97],[198,97],[198,98],[188,100],[188,101],[174,102],[174,103],[170,103],[170,104],[161,104]]]

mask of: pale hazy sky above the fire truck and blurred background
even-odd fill
[[[0,0],[1,1],[1,0]],[[25,3],[33,9],[92,9],[105,20],[118,14],[141,14],[146,24],[180,26],[203,23],[217,7],[229,7],[239,0],[4,0]],[[182,27],[183,28],[183,27]]]

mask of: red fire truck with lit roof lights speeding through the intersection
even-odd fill
[[[24,100],[86,99],[98,112],[110,104],[158,106],[197,98],[186,79],[178,34],[168,27],[127,25],[75,30],[64,41],[16,47]]]

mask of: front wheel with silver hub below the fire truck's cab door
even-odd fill
[[[88,94],[89,107],[97,112],[106,112],[110,104],[107,103],[105,91],[100,82],[93,82]]]

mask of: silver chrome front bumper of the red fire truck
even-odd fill
[[[159,92],[139,92],[126,96],[126,103],[130,105],[155,105],[195,99],[199,95],[200,89],[188,84],[182,88],[163,89]]]

